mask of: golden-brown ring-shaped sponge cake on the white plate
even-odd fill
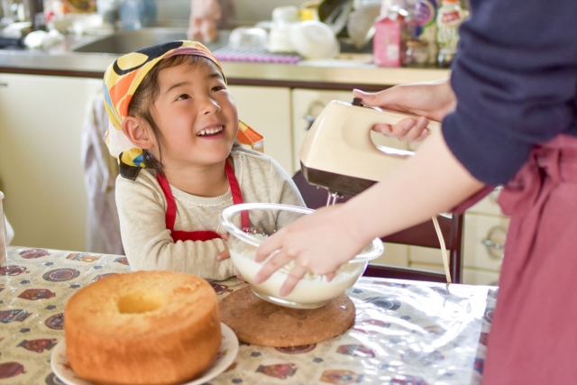
[[[218,302],[199,277],[137,271],[98,280],[65,308],[70,366],[101,384],[176,384],[214,361],[222,335]]]

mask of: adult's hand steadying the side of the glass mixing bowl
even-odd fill
[[[349,228],[342,206],[319,208],[316,213],[303,215],[270,236],[258,248],[255,261],[264,261],[271,252],[279,252],[267,261],[254,281],[268,280],[274,271],[289,261],[295,261],[295,266],[280,288],[281,296],[288,295],[308,270],[332,280],[339,266],[353,259],[368,243]]]

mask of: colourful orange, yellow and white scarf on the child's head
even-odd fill
[[[135,147],[122,130],[122,122],[128,115],[128,105],[146,74],[160,60],[176,55],[196,55],[213,61],[226,81],[218,60],[210,50],[197,41],[169,41],[137,50],[114,61],[105,71],[105,109],[110,118],[105,142],[110,154],[118,159],[121,174],[126,178],[136,178],[138,170],[145,167],[142,149]],[[263,151],[262,135],[243,122],[239,122],[236,141],[249,145],[254,150]]]

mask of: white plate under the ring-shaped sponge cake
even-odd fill
[[[215,362],[213,362],[212,366],[206,369],[200,377],[190,382],[185,382],[182,385],[203,384],[214,379],[234,362],[236,353],[238,353],[238,339],[230,327],[223,323],[220,325],[223,333],[223,341],[220,343],[218,353],[216,353]],[[56,374],[58,378],[67,385],[94,385],[93,382],[88,382],[87,380],[79,378],[70,368],[69,358],[66,355],[66,342],[64,339],[54,347],[50,357],[50,365],[52,366],[54,374]]]

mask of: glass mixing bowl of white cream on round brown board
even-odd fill
[[[242,212],[249,214],[252,225],[250,231],[244,232],[240,227]],[[289,276],[293,262],[275,271],[269,280],[255,284],[254,276],[266,262],[257,263],[254,261],[259,245],[267,236],[274,234],[284,225],[288,225],[302,215],[314,212],[315,210],[298,206],[243,203],[225,208],[220,215],[220,222],[228,231],[228,248],[234,266],[244,280],[249,282],[252,291],[258,297],[284,307],[304,309],[323,307],[329,300],[352,287],[361,277],[369,261],[379,257],[383,252],[382,242],[379,238],[375,238],[360,254],[344,263],[330,282],[326,280],[325,276],[315,275],[309,271],[286,297],[281,297],[279,290]],[[273,254],[274,252],[270,256]],[[330,255],[319,255],[318,257],[331,258]]]

